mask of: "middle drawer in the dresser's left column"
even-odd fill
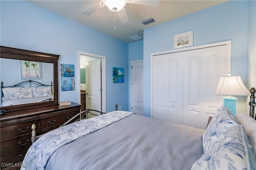
[[[31,134],[1,142],[1,156],[31,146]],[[10,147],[11,146],[11,147]]]

